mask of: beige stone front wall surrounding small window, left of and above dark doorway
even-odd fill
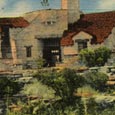
[[[22,63],[36,60],[42,56],[42,42],[44,38],[62,37],[67,29],[66,10],[41,10],[25,14],[24,18],[30,22],[26,28],[11,28],[10,39],[15,41],[12,48],[14,58]],[[31,46],[32,57],[26,57],[26,46]]]

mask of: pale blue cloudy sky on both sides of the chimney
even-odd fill
[[[49,6],[42,6],[42,0],[0,0],[0,17],[20,16],[39,9],[60,8],[60,0],[49,0]],[[80,0],[84,13],[115,10],[115,0]]]

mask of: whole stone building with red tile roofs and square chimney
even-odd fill
[[[80,14],[79,0],[61,0],[61,9],[0,18],[0,70],[36,68],[44,58],[54,66],[83,48],[115,49],[115,12]]]

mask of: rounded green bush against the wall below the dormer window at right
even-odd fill
[[[110,54],[110,49],[106,47],[100,47],[95,50],[83,49],[80,52],[80,59],[89,67],[102,66],[110,58]]]

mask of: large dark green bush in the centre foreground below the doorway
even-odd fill
[[[55,94],[63,100],[71,100],[75,89],[83,85],[83,78],[75,70],[64,69],[60,72],[39,72],[35,77],[43,84],[52,87]]]

